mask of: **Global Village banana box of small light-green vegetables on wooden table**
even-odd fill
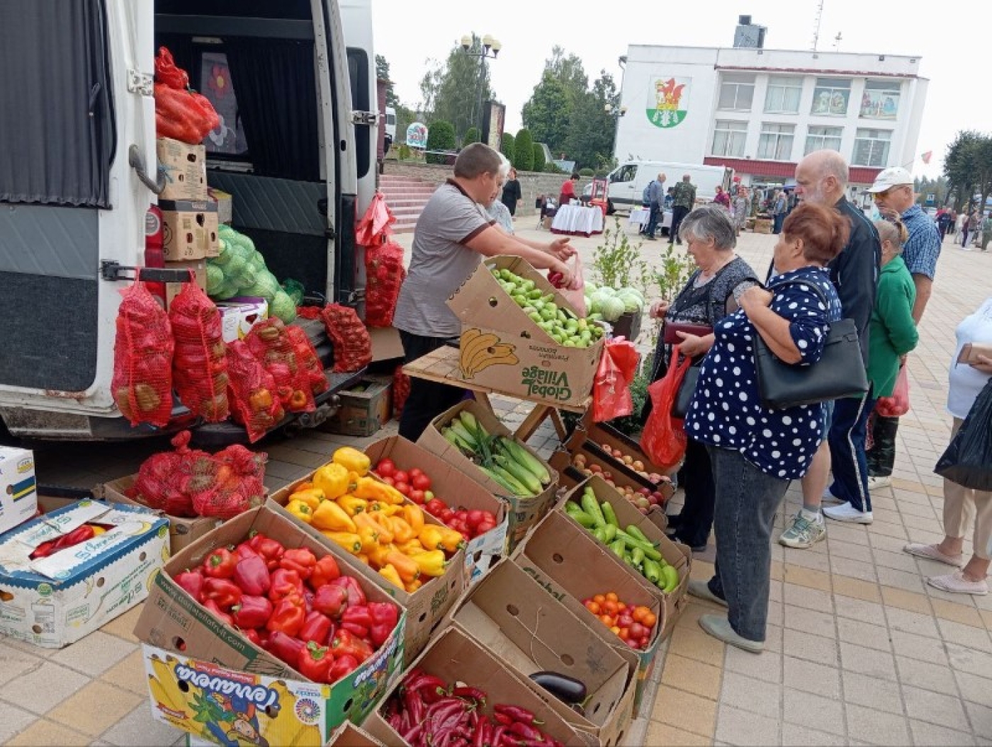
[[[548,279],[516,257],[493,257],[448,298],[461,320],[459,373],[473,384],[584,407],[603,328],[579,316]]]

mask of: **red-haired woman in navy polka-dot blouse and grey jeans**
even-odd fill
[[[727,607],[726,616],[700,616],[703,630],[753,653],[764,648],[775,514],[790,480],[806,474],[826,417],[823,404],[762,405],[754,339],[794,366],[819,360],[841,314],[827,266],[850,226],[839,211],[815,204],[786,219],[768,289],[748,288],[741,308],[717,323],[685,415],[686,435],[706,444],[716,487],[716,567],[708,582],[689,581],[688,591]]]

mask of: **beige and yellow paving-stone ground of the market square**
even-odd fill
[[[518,225],[528,237],[549,237],[530,230],[531,219]],[[408,248],[410,238],[400,237]],[[588,264],[599,241],[573,243]],[[738,251],[762,273],[774,241],[745,234]],[[646,243],[644,252],[657,258],[662,248]],[[660,654],[657,697],[641,732],[646,744],[992,744],[992,596],[928,587],[925,577],[942,567],[901,552],[907,541],[941,536],[942,493],[932,468],[950,430],[943,407],[953,330],[988,296],[990,276],[992,255],[944,244],[920,347],[910,357],[913,409],[902,418],[893,485],[873,495],[875,523],[830,523],[827,540],[811,550],[773,546],[768,650],[760,656],[705,635],[696,620],[711,607],[689,603]],[[528,410],[499,397],[494,405],[511,426]],[[391,424],[374,438],[394,431]],[[263,442],[267,484],[305,475],[344,442],[355,439],[310,431]],[[531,443],[550,451],[557,437],[545,424]],[[162,448],[162,440],[40,447],[39,480],[90,487],[134,473]],[[674,503],[680,499],[677,493]],[[797,486],[777,528],[799,505]],[[694,578],[712,573],[712,552],[696,557]],[[184,743],[152,718],[131,632],[138,614],[133,609],[61,651],[0,638],[0,742]]]

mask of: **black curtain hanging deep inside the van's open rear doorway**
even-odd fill
[[[255,173],[318,181],[313,43],[224,37],[223,49]]]

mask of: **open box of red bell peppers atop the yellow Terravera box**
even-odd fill
[[[403,661],[406,618],[385,591],[354,574],[343,552],[261,506],[201,537],[166,566],[135,635],[244,678],[292,681],[307,697],[303,704],[297,698],[291,725],[317,726],[321,741],[314,743],[323,744],[334,726],[360,721],[383,693]],[[229,687],[216,693],[229,694]],[[270,697],[262,699],[271,704]],[[200,733],[193,713],[157,699],[154,687],[152,699],[156,717],[216,739]],[[276,728],[270,721],[259,722],[260,735],[271,744],[290,743],[282,722],[267,731]]]

